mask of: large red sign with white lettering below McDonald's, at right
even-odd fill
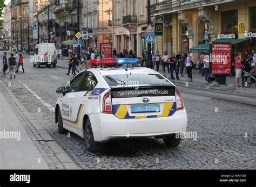
[[[231,44],[212,44],[212,74],[231,74]]]

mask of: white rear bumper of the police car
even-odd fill
[[[187,127],[185,109],[176,111],[170,117],[119,119],[113,114],[105,113],[100,113],[99,117],[100,133],[96,133],[95,141],[176,134],[186,131]]]

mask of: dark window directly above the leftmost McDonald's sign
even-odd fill
[[[237,33],[238,10],[224,11],[221,13],[222,33]]]

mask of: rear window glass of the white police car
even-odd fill
[[[159,74],[119,74],[103,76],[110,87],[136,85],[172,85]]]

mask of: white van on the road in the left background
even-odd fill
[[[40,68],[42,65],[51,67],[52,55],[55,51],[56,47],[53,43],[37,44],[34,49],[33,67]],[[48,53],[47,55],[46,52]]]

